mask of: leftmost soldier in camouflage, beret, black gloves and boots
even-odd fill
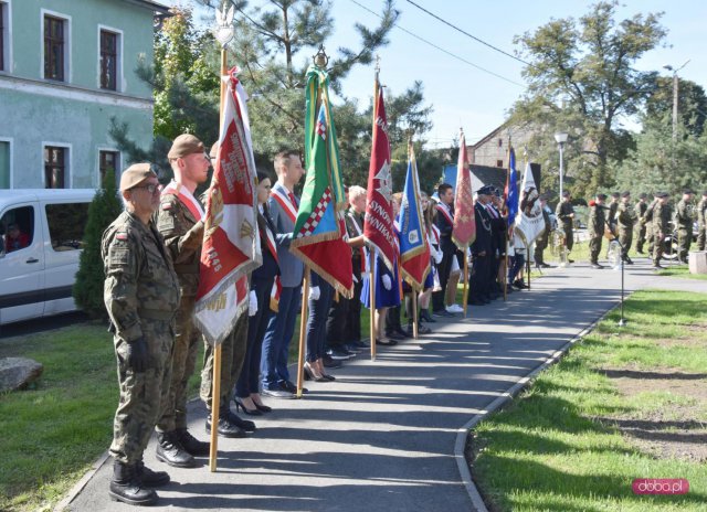
[[[179,281],[151,221],[160,186],[149,163],[126,169],[120,192],[126,211],[108,226],[101,243],[104,301],[120,388],[110,445],[115,462],[109,494],[114,500],[145,505],[157,501],[150,488],[169,482],[166,472],[145,467],[143,452],[169,387]]]

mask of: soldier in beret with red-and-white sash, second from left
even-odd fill
[[[175,179],[162,190],[157,228],[175,262],[181,301],[175,327],[172,375],[161,417],[157,422],[157,459],[178,468],[193,468],[193,456],[209,455],[209,444],[187,430],[187,384],[194,372],[201,340],[193,323],[203,239],[203,210],[193,196],[209,178],[210,160],[193,135],[180,135],[167,154]]]

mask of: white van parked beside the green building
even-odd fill
[[[88,204],[95,190],[0,190],[0,324],[76,309]]]

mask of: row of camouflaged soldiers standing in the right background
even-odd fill
[[[568,192],[562,194],[562,201],[557,206],[557,217],[566,235],[566,248],[572,250],[574,209]],[[626,264],[633,262],[629,257],[629,250],[636,232],[636,252],[644,254],[644,245],[648,242],[647,253],[653,259],[654,268],[661,267],[661,258],[666,248],[666,239],[669,239],[671,221],[677,230],[677,257],[682,263],[687,263],[694,232],[693,224],[697,221],[697,247],[705,249],[705,226],[707,210],[707,191],[703,192],[701,200],[695,206],[694,192],[685,190],[683,198],[677,203],[675,211],[668,203],[666,192],[656,192],[653,202],[647,202],[645,193],[640,194],[639,202],[631,203],[631,193],[613,193],[609,205],[605,204],[606,195],[599,193],[590,201],[588,232],[590,236],[590,263],[593,268],[602,268],[599,264],[602,238],[616,237],[621,246],[621,258]],[[569,259],[572,263],[571,259]]]

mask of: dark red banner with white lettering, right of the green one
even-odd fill
[[[377,249],[386,266],[393,271],[397,250],[393,206],[390,202],[393,185],[390,175],[390,142],[383,89],[378,86],[378,83],[376,85],[378,94],[373,108],[373,146],[368,168],[363,238],[369,247]]]

